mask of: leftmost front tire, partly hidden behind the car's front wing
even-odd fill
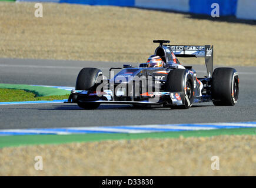
[[[75,90],[91,90],[96,91],[96,88],[102,80],[102,71],[96,68],[83,68],[77,76]],[[80,108],[97,109],[99,103],[77,103]]]

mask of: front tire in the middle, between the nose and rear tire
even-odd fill
[[[194,101],[194,85],[191,74],[186,69],[173,69],[168,73],[165,82],[167,92],[185,92],[184,105],[171,108],[188,109]]]

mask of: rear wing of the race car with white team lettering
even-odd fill
[[[174,52],[175,56],[182,58],[203,57],[207,68],[207,78],[212,77],[213,72],[213,45],[205,46],[181,46],[181,45],[166,45],[167,48]]]

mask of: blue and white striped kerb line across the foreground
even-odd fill
[[[202,125],[202,126],[198,126]],[[219,126],[219,127],[211,127]],[[223,127],[222,127],[223,126]],[[131,126],[105,126],[105,127],[61,127],[44,129],[0,129],[0,136],[25,134],[85,134],[93,132],[105,133],[152,133],[171,132],[180,130],[212,130],[223,129],[225,126],[233,127],[256,127],[256,122],[248,123],[194,123],[194,124],[169,124],[169,125],[131,125]]]

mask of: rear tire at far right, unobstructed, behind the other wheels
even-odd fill
[[[216,68],[212,74],[212,102],[215,106],[234,106],[238,100],[239,78],[233,68]]]

